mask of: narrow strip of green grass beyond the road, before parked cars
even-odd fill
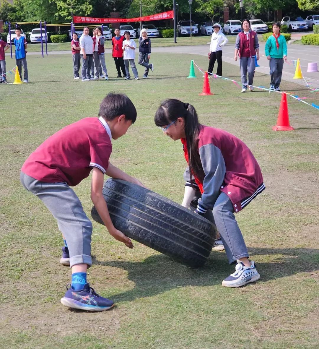
[[[236,40],[236,35],[228,35],[229,43],[234,44]],[[193,37],[178,37],[177,43],[174,43],[174,38],[151,38],[152,47],[168,47],[168,46],[186,46],[186,45],[205,45],[210,42],[210,36],[193,36]],[[259,37],[259,40],[262,41],[262,37]],[[135,42],[138,43],[139,39],[135,39]],[[45,53],[45,45],[43,46]],[[48,51],[67,51],[70,50],[71,42],[67,43],[49,43],[47,44]],[[106,40],[104,44],[105,49],[111,49],[111,41]],[[13,46],[14,50],[14,46]],[[29,52],[40,52],[41,44],[29,44]]]

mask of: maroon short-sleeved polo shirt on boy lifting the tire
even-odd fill
[[[104,174],[112,152],[111,131],[102,118],[85,118],[45,140],[24,162],[21,171],[46,183],[75,186],[93,167]]]

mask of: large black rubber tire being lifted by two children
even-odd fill
[[[206,218],[138,185],[108,179],[103,196],[114,227],[129,238],[191,267],[207,261],[217,229]],[[92,218],[103,224],[95,207]]]

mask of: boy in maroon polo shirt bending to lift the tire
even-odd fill
[[[84,118],[62,128],[44,141],[21,169],[22,185],[38,196],[58,221],[72,269],[72,282],[61,303],[86,311],[110,309],[114,303],[96,294],[87,283],[92,265],[92,223],[70,186],[89,176],[92,170],[91,200],[109,233],[133,248],[131,240],[117,230],[102,195],[104,174],[138,185],[139,180],[109,163],[111,138],[123,136],[136,120],[136,109],[124,94],[109,93],[102,101],[99,118]],[[74,136],[76,135],[76,136]]]

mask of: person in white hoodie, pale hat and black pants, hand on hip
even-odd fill
[[[214,64],[217,60],[217,72],[216,74],[222,76],[222,47],[228,43],[227,37],[223,34],[222,27],[220,24],[214,24],[214,32],[212,34],[212,39],[210,40],[210,48],[208,53],[209,65],[208,73],[212,74],[214,69]]]

